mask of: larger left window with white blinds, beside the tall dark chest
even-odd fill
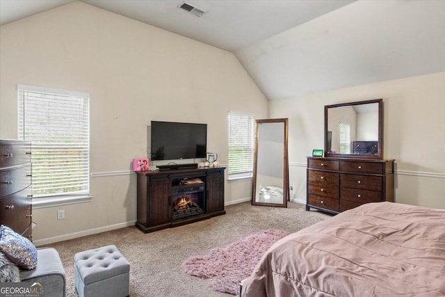
[[[61,135],[63,136],[55,136],[54,138],[42,138],[40,143],[39,141],[35,141],[35,139],[29,137],[30,134],[29,131],[26,131],[26,114],[33,111],[33,107],[38,106],[36,102],[34,101],[31,103],[32,97],[41,97],[42,98],[42,104],[43,102],[47,102],[47,104],[51,107],[57,106],[56,104],[59,104],[61,108],[58,111],[55,111],[54,113],[51,113],[51,116],[56,117],[57,115],[70,115],[70,113],[77,112],[78,119],[73,120],[72,122],[64,122],[63,120],[58,119],[58,122],[56,122],[56,125],[51,125],[48,118],[44,118],[45,121],[43,125],[40,126],[40,129],[60,129]],[[26,100],[28,100],[30,108],[26,109]],[[39,99],[37,99],[39,100]],[[54,102],[51,102],[51,100],[57,100],[56,104]],[[63,102],[65,100],[65,102]],[[66,104],[73,103],[75,104],[75,110],[67,112],[65,108],[67,108]],[[52,104],[52,105],[51,105]],[[47,207],[47,206],[54,206],[54,205],[60,205],[60,204],[72,204],[72,203],[78,203],[78,202],[86,202],[89,201],[92,197],[90,195],[90,94],[88,93],[81,93],[81,92],[74,92],[69,90],[57,90],[52,88],[42,88],[37,86],[26,86],[26,85],[17,85],[17,135],[18,138],[24,141],[30,141],[31,142],[31,161],[33,161],[33,150],[34,150],[34,156],[37,158],[37,150],[38,147],[42,149],[42,147],[47,148],[49,151],[54,149],[63,149],[64,154],[67,154],[67,152],[74,153],[74,160],[76,161],[74,164],[74,177],[77,179],[77,182],[75,183],[77,186],[77,190],[68,191],[65,192],[64,190],[58,191],[57,193],[49,193],[48,186],[43,186],[41,191],[48,191],[48,193],[43,194],[35,194],[35,186],[33,187],[33,208],[40,208],[40,207]],[[47,115],[44,115],[42,113],[42,110],[34,110],[33,116],[28,116],[26,120],[37,120],[39,119],[39,116],[47,117]],[[31,113],[30,113],[31,114]],[[67,126],[65,124],[68,123]],[[30,124],[28,124],[30,125]],[[72,126],[76,125],[77,128],[79,128],[78,134],[72,134],[69,138],[67,138],[66,142],[60,141],[61,137],[65,137],[67,134],[64,134],[63,131],[72,131]],[[36,125],[32,125],[33,128],[36,128]],[[31,132],[32,133],[32,132]],[[35,135],[38,134],[38,129],[34,129]],[[54,134],[56,135],[56,134]],[[40,136],[41,137],[41,136]],[[74,139],[75,137],[75,139]],[[39,136],[36,136],[35,138],[39,138]],[[52,143],[51,143],[52,141]],[[57,143],[58,142],[58,143]],[[80,145],[79,145],[80,143]],[[35,147],[35,149],[33,149]],[[49,155],[54,154],[49,153]],[[45,154],[44,154],[45,155]],[[47,155],[46,155],[47,156]],[[68,156],[62,156],[62,158],[58,159],[56,161],[56,164],[51,164],[51,166],[55,166],[57,164],[64,164],[63,162],[67,162],[67,159],[71,159],[71,157]],[[31,174],[38,175],[36,172],[33,171],[33,168],[36,168],[36,165],[38,161],[37,159],[34,160],[33,166],[31,166]],[[49,166],[49,168],[51,168]],[[39,167],[37,167],[39,168]],[[44,166],[41,166],[39,169],[42,170],[42,168],[45,168]],[[38,170],[38,169],[37,169]],[[67,175],[63,175],[62,177],[53,176],[51,177],[54,181],[55,179],[60,178],[63,183],[68,184],[68,178]],[[33,179],[33,183],[36,184],[40,181],[42,181],[44,177],[37,177]],[[63,186],[63,184],[62,184]],[[45,188],[47,187],[47,188]]]

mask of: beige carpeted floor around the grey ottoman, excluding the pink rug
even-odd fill
[[[184,272],[182,263],[193,255],[225,247],[261,230],[277,229],[292,233],[329,218],[318,211],[305,211],[304,205],[289,207],[252,206],[250,202],[229,205],[227,214],[197,223],[144,234],[136,227],[104,232],[53,243],[67,273],[67,296],[77,296],[74,288],[74,254],[114,244],[130,262],[132,297],[176,297],[231,295],[213,291],[210,280]]]

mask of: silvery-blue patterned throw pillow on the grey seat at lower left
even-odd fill
[[[37,249],[33,243],[5,225],[0,225],[0,252],[19,268],[33,269],[37,265]]]

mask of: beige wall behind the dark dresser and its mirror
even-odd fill
[[[271,118],[289,118],[294,199],[306,199],[306,156],[323,149],[324,106],[378,98],[384,102],[383,153],[396,159],[396,202],[445,209],[445,72],[270,102]]]

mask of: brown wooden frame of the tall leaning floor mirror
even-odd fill
[[[283,201],[282,203],[265,203],[256,201],[257,190],[257,172],[258,172],[258,143],[259,143],[259,125],[267,123],[284,123],[284,143],[283,143]],[[252,205],[262,205],[269,207],[287,207],[287,201],[289,200],[289,154],[288,154],[288,126],[289,119],[277,118],[266,120],[255,120],[255,143],[254,143],[254,166],[252,175]]]

